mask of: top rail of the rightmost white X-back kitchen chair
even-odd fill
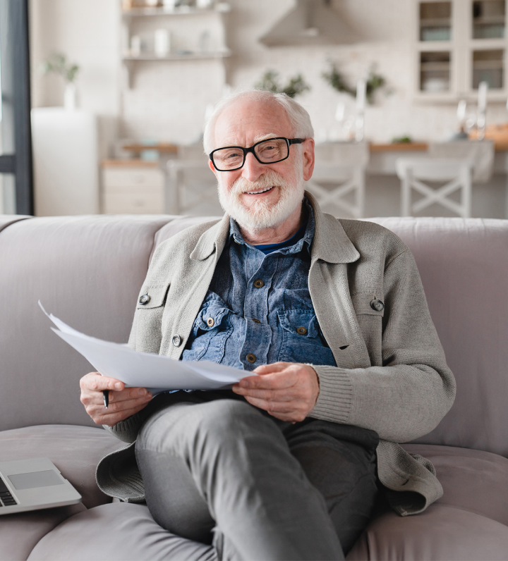
[[[458,178],[462,171],[470,171],[472,167],[471,161],[458,158],[398,158],[395,163],[399,179],[411,173],[415,179],[428,181]]]

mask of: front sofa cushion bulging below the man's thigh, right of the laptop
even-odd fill
[[[30,561],[216,561],[212,545],[171,534],[145,505],[110,503],[80,512],[44,536]]]

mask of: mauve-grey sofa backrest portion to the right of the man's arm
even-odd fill
[[[508,457],[508,221],[368,218],[413,252],[457,383],[437,429],[418,442]]]

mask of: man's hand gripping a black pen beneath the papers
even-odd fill
[[[152,399],[152,394],[145,388],[126,388],[123,382],[101,376],[99,372],[83,376],[80,388],[81,403],[98,425],[114,426],[146,407]],[[109,390],[107,409],[104,407],[102,390]]]

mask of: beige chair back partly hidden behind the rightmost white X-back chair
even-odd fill
[[[458,158],[473,164],[473,181],[486,183],[494,170],[494,142],[492,140],[456,140],[430,142],[428,155],[432,158]]]

